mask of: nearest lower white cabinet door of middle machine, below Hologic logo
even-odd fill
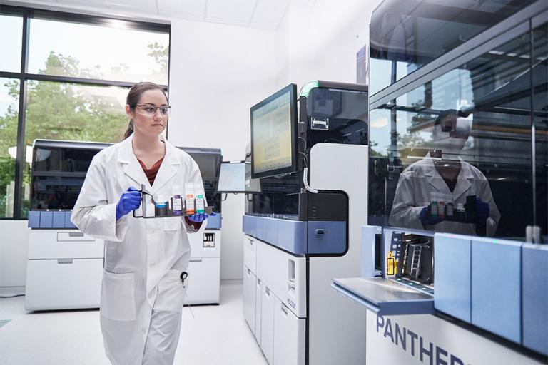
[[[296,317],[275,298],[273,365],[301,364],[305,364],[305,319]]]

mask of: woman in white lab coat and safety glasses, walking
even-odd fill
[[[141,205],[135,188],[141,184],[154,197],[184,196],[181,189],[194,184],[203,189],[196,162],[161,136],[169,110],[160,86],[131,88],[126,139],[93,158],[71,216],[79,230],[105,240],[101,331],[116,365],[173,364],[188,282],[181,279],[191,255],[188,235],[207,218],[132,216]]]

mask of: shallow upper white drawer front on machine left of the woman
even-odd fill
[[[29,259],[102,259],[103,240],[78,230],[30,230]]]

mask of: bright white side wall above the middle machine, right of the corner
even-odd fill
[[[367,43],[371,12],[380,0],[318,0],[290,5],[277,32],[278,88],[312,80],[356,82],[356,53]]]

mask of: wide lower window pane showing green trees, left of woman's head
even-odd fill
[[[29,153],[23,174],[24,184],[30,183],[30,146],[37,138],[112,143],[123,139],[128,126],[124,110],[127,88],[46,81],[29,81],[27,87],[25,140]],[[78,167],[77,162],[63,166],[59,165],[59,171],[86,170]],[[23,197],[22,206],[29,207],[29,195]],[[21,210],[21,216],[26,217],[26,210]]]

